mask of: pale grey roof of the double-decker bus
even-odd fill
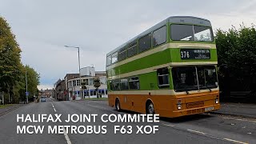
[[[134,40],[141,38],[142,36],[146,34],[150,34],[150,32],[154,30],[158,30],[158,28],[165,26],[166,23],[184,23],[184,24],[193,24],[193,25],[201,25],[201,26],[210,26],[210,21],[205,18],[198,18],[193,16],[170,16],[169,18],[166,18],[162,22],[158,22],[158,24],[150,27],[150,29],[142,32],[141,34],[138,34],[134,38],[130,39],[128,42],[123,43],[121,46],[118,46],[116,49],[111,50],[106,56],[109,56],[110,54],[113,54],[114,52],[118,51],[119,49],[122,49],[127,44],[130,44],[130,42],[134,42]]]

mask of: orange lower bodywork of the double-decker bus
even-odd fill
[[[132,110],[138,113],[146,113],[146,101],[151,100],[154,104],[156,114],[161,117],[179,117],[190,114],[201,114],[206,112],[205,108],[213,107],[214,110],[220,108],[219,103],[215,103],[218,91],[201,94],[185,95],[149,95],[149,94],[113,94],[110,96],[111,102],[115,98],[120,98],[122,110]],[[113,97],[113,98],[112,98]],[[182,102],[182,110],[178,110],[178,101]]]

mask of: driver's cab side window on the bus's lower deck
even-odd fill
[[[165,68],[162,68],[162,69],[158,69],[157,73],[158,73],[158,86],[159,87],[168,87],[168,86],[170,86],[168,68],[165,67]]]

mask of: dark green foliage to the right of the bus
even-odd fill
[[[256,75],[255,26],[241,25],[239,29],[233,26],[227,31],[217,30],[215,42],[218,51],[218,64],[226,66],[230,78],[248,84],[246,89],[249,89],[249,85],[255,83]],[[221,77],[224,77],[224,73],[224,70],[221,69]]]

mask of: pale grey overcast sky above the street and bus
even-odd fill
[[[170,16],[209,19],[213,30],[256,24],[256,0],[0,0],[0,16],[40,74],[38,89],[81,67],[106,70],[106,54]]]

